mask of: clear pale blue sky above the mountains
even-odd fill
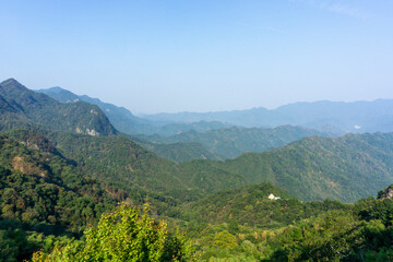
[[[393,98],[392,0],[0,0],[0,81],[134,114]]]

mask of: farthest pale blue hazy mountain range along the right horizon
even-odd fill
[[[393,131],[393,99],[295,103],[273,110],[259,107],[217,112],[156,114],[144,118],[179,122],[222,121],[248,128],[291,124],[334,133],[389,132]]]

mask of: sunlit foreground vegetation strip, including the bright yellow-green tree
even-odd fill
[[[32,261],[393,260],[391,199],[365,199],[350,209],[321,212],[275,229],[195,219],[182,227],[186,236],[168,230],[147,212],[140,215],[138,209],[120,205],[80,240],[57,241],[35,252]]]

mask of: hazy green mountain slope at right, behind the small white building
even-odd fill
[[[393,133],[306,138],[261,154],[216,163],[249,183],[270,181],[306,201],[353,202],[393,182]]]

